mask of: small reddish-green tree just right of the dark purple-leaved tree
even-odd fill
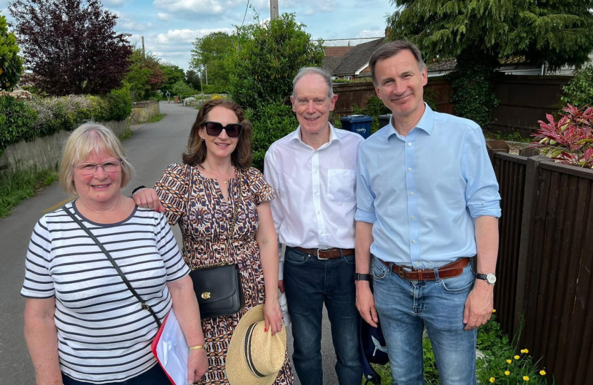
[[[133,101],[144,101],[154,97],[167,81],[159,60],[140,49],[134,49],[129,57],[129,69],[126,73],[124,83],[129,85]]]

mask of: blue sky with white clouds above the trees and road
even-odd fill
[[[1,14],[11,21],[0,0]],[[240,26],[247,0],[102,0],[119,16],[117,31],[131,34],[140,46],[144,36],[146,51],[185,70],[189,68],[191,42],[213,31],[232,33]],[[385,17],[394,11],[389,0],[278,0],[280,13],[294,12],[296,21],[307,25],[313,39],[353,39],[383,36]],[[269,0],[250,0],[260,20],[269,19]],[[249,8],[245,23],[251,23]],[[351,45],[369,40],[352,40]],[[327,41],[346,46],[348,41]]]

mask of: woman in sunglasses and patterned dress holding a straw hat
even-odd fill
[[[241,269],[245,306],[228,317],[201,321],[209,370],[198,384],[227,384],[226,351],[239,319],[251,307],[264,304],[266,331],[276,334],[282,327],[278,244],[269,203],[275,194],[259,170],[250,167],[251,123],[241,107],[226,99],[204,103],[183,162],[170,165],[154,190],[143,188],[134,200],[139,206],[164,210],[171,225],[179,224],[184,258],[192,270],[226,260],[226,240],[237,207],[228,255]],[[285,354],[274,384],[293,383]]]

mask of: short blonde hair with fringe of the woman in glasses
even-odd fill
[[[126,153],[121,142],[104,125],[97,123],[84,123],[76,130],[72,131],[66,145],[64,145],[64,154],[60,162],[60,185],[66,193],[78,195],[74,187],[74,165],[81,163],[89,157],[91,153],[104,151],[107,155],[121,160],[121,188],[131,180],[134,175],[134,167],[126,158]]]

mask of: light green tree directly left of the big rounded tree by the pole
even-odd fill
[[[202,74],[206,85],[214,86],[215,92],[224,92],[229,84],[229,71],[226,68],[226,57],[234,50],[231,36],[226,32],[212,32],[194,41],[189,65]],[[207,76],[206,76],[207,73]]]

